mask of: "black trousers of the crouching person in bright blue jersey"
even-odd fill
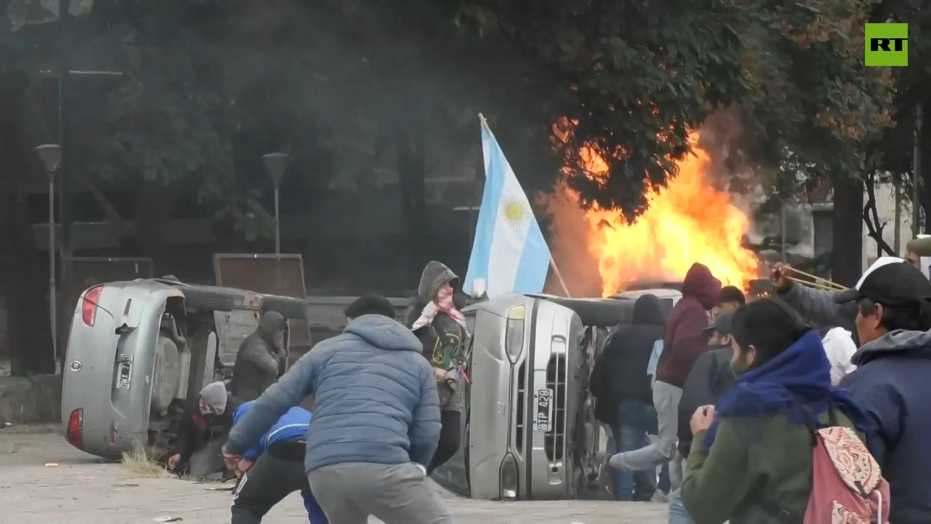
[[[304,443],[274,444],[239,481],[233,495],[232,524],[259,524],[275,504],[294,491],[304,495],[305,506],[308,499],[313,500],[304,472]]]

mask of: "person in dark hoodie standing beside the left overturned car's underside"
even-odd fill
[[[265,311],[259,326],[242,341],[236,352],[233,382],[230,391],[243,402],[259,398],[278,378],[279,359],[288,355],[284,348],[284,332],[288,322],[277,311]]]

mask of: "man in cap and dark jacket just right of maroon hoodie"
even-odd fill
[[[734,383],[735,375],[731,369],[731,320],[734,312],[718,315],[714,322],[705,328],[708,338],[708,352],[695,361],[689,378],[682,386],[682,398],[679,401],[679,445],[678,456],[673,460],[672,467],[684,469],[685,459],[689,457],[692,448],[692,428],[690,421],[698,407],[715,406],[723,393],[730,389]],[[685,477],[682,471],[681,478]],[[670,524],[687,524],[691,522],[682,507],[681,488],[669,493],[669,522]]]

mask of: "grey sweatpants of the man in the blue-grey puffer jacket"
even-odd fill
[[[310,490],[332,524],[452,524],[446,504],[411,462],[346,462],[307,475]]]

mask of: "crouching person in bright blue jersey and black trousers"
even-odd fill
[[[234,426],[255,405],[247,402],[233,413]],[[258,444],[243,453],[236,464],[239,484],[233,493],[232,524],[258,524],[272,506],[301,491],[310,524],[329,524],[323,509],[310,492],[304,474],[304,448],[310,411],[291,407]]]

